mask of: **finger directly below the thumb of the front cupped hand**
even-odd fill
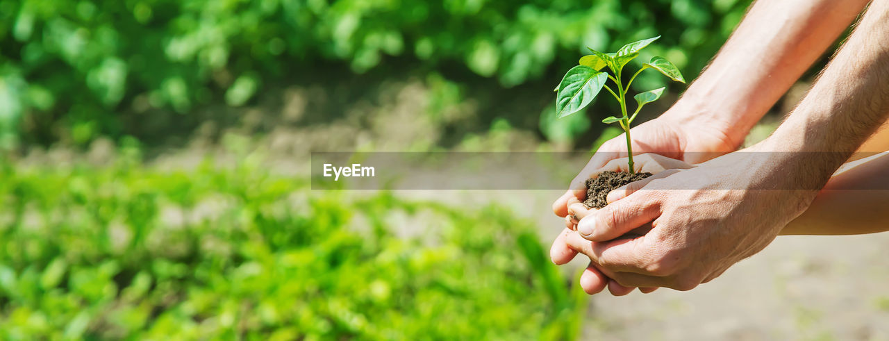
[[[563,234],[565,244],[571,250],[586,255],[590,261],[613,272],[643,273],[647,259],[644,255],[632,252],[636,247],[627,247],[625,244],[637,243],[643,236],[634,239],[621,239],[613,242],[589,242],[577,233]],[[560,235],[563,236],[563,235]],[[617,247],[612,247],[611,244]],[[640,248],[641,249],[641,248]],[[615,252],[615,250],[617,250]],[[623,258],[621,258],[623,257]],[[608,274],[605,274],[608,275]],[[610,276],[609,276],[610,277]]]

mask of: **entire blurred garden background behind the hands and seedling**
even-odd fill
[[[640,60],[693,79],[748,5],[0,0],[0,338],[889,337],[873,238],[590,298],[549,263],[560,191],[309,190],[311,151],[593,149],[618,108],[552,92],[585,46],[660,35]],[[684,89],[634,84],[669,89],[642,119]]]

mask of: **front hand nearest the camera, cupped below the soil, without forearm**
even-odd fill
[[[763,155],[733,153],[632,183],[560,238],[623,287],[693,289],[763,250],[818,193],[785,173],[789,163]],[[648,223],[647,234],[615,240]]]

